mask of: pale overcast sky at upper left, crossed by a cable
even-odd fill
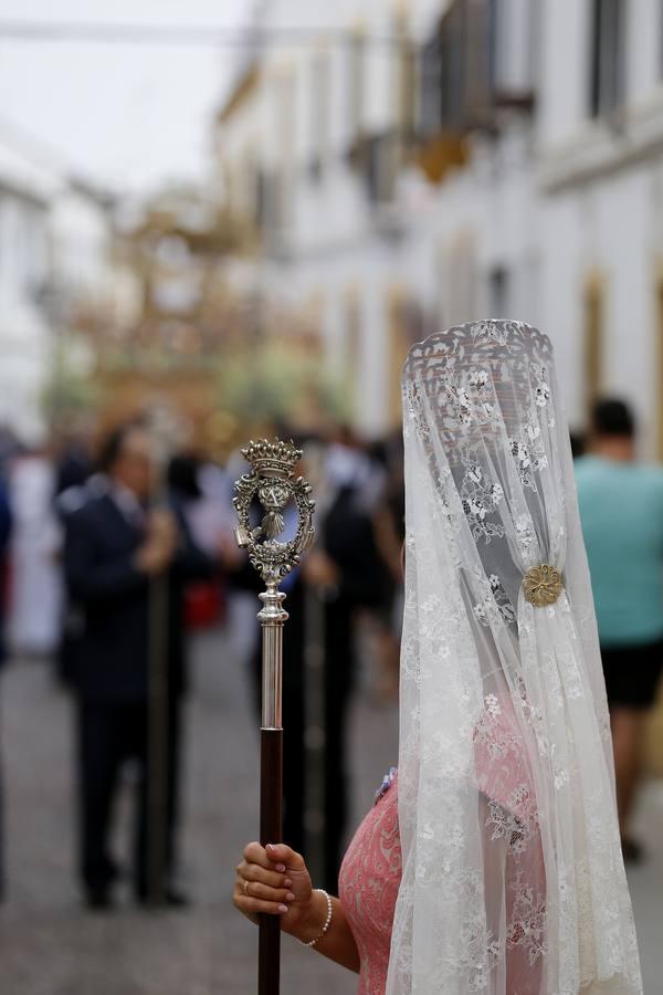
[[[251,0],[0,0],[3,21],[233,28]],[[204,174],[235,49],[0,38],[0,140],[20,126],[86,178],[144,192]]]

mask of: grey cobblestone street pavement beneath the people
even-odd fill
[[[45,664],[2,677],[8,901],[0,911],[2,995],[254,995],[256,932],[229,901],[233,868],[255,836],[257,740],[241,652],[228,636],[198,637],[187,737],[183,880],[193,907],[110,915],[84,912],[76,890],[71,702]],[[354,818],[396,758],[392,708],[357,695],[350,727]],[[663,793],[642,799],[652,860],[631,874],[645,995],[663,993]],[[119,829],[127,829],[127,798]],[[124,825],[123,825],[124,824]],[[118,832],[118,852],[126,851]],[[290,938],[282,991],[351,995],[356,977]]]

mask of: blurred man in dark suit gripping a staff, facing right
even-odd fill
[[[88,904],[109,905],[116,876],[108,851],[113,799],[123,762],[135,757],[144,772],[135,889],[139,900],[147,897],[148,836],[155,839],[156,818],[150,808],[152,821],[148,820],[148,804],[154,787],[150,778],[157,776],[151,761],[148,764],[148,734],[154,733],[157,721],[166,730],[160,758],[165,792],[159,818],[164,825],[158,827],[164,840],[159,891],[166,902],[181,904],[182,897],[172,889],[171,871],[180,704],[186,684],[183,587],[187,580],[208,575],[210,564],[193,546],[175,510],[148,511],[154,459],[143,427],[129,425],[114,432],[102,463],[106,491],[69,515],[65,526],[66,580],[83,618],[73,681],[78,698],[81,874]],[[157,619],[155,585],[167,590],[167,610]],[[155,713],[152,702],[148,715],[155,646],[162,646],[162,659],[157,660],[162,705]]]

